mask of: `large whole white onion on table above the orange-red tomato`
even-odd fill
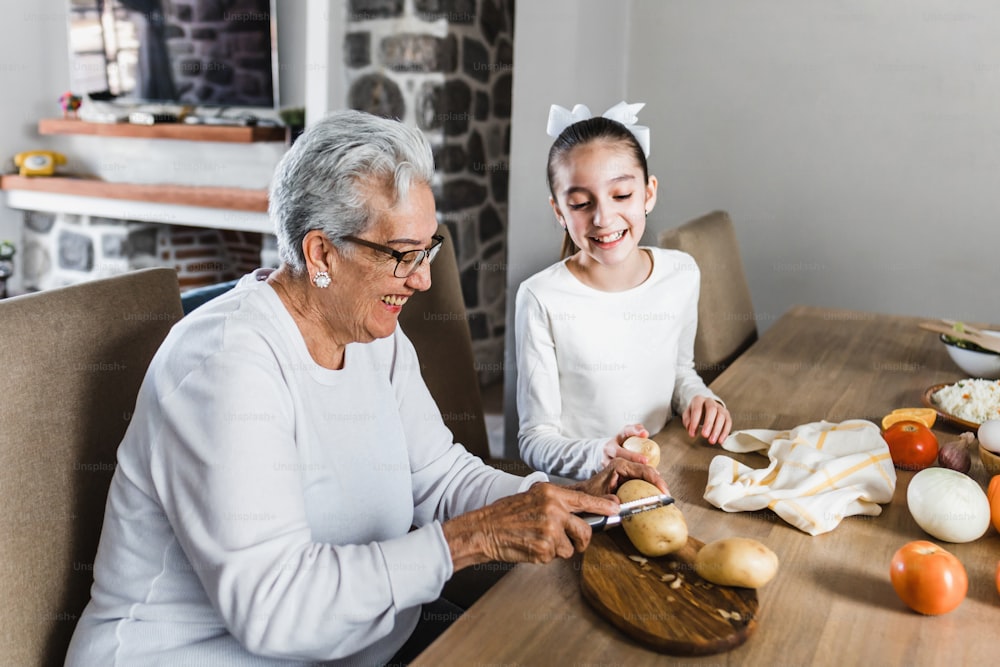
[[[979,483],[947,468],[921,470],[906,490],[917,525],[945,542],[978,540],[990,526],[990,502]]]

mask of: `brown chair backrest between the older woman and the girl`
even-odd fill
[[[437,233],[444,245],[431,264],[431,288],[410,297],[399,324],[413,341],[424,382],[455,441],[485,461],[489,437],[456,249],[445,225]]]

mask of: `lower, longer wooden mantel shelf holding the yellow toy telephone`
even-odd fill
[[[267,190],[246,188],[109,183],[90,178],[6,174],[0,176],[0,189],[267,212]]]

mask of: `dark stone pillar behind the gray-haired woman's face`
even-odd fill
[[[419,127],[480,381],[503,376],[513,0],[350,0],[348,104]]]

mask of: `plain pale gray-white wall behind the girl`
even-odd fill
[[[647,103],[661,189],[646,242],[728,210],[762,330],[795,304],[1000,323],[1000,5],[556,6],[517,10],[508,455],[513,294],[559,237],[543,185],[551,102]]]

